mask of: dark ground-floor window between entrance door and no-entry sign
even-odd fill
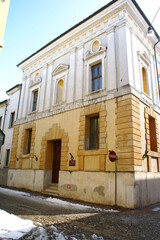
[[[99,116],[86,117],[85,148],[99,149]]]

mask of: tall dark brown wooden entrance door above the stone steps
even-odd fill
[[[52,164],[52,182],[58,183],[61,161],[61,141],[53,142],[53,164]]]

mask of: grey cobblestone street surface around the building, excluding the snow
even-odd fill
[[[117,213],[67,209],[51,204],[44,206],[20,196],[14,198],[0,194],[0,199],[0,209],[32,220],[37,228],[43,227],[50,236],[47,239],[56,239],[52,234],[53,226],[69,236],[68,239],[94,239],[93,234],[106,240],[160,239],[160,203],[137,210],[119,209]],[[23,239],[36,239],[31,236],[30,233]]]

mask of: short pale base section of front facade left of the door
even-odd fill
[[[9,169],[8,187],[23,188],[32,191],[43,190],[44,171],[28,169]]]

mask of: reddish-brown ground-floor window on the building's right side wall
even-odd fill
[[[149,116],[149,133],[151,151],[157,152],[156,122],[151,116]]]

